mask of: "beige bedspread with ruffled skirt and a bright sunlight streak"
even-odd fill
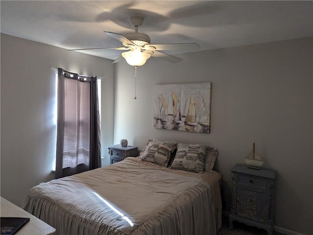
[[[129,157],[35,186],[22,207],[56,235],[216,235],[221,177]]]

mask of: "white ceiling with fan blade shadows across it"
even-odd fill
[[[138,32],[153,44],[198,43],[201,50],[313,36],[310,0],[1,0],[0,9],[1,33],[66,49],[122,46],[103,31],[133,32],[132,16],[144,18]],[[111,60],[121,53],[81,52]]]

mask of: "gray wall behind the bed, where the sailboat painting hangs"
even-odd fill
[[[256,141],[264,167],[277,175],[275,225],[313,234],[313,43],[289,40],[180,55],[179,64],[149,59],[137,70],[115,71],[114,144],[142,149],[149,138],[209,144],[220,154],[225,211],[230,211],[230,169],[244,163]],[[212,83],[211,133],[153,127],[153,86]]]

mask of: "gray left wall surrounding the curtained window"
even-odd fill
[[[105,76],[101,83],[104,156],[113,143],[111,60],[1,34],[1,196],[19,206],[31,187],[53,178],[55,70],[50,67]]]

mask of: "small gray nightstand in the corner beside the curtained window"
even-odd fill
[[[138,147],[127,146],[122,147],[121,145],[112,145],[108,147],[110,154],[110,164],[120,162],[125,157],[136,157],[138,156]]]

